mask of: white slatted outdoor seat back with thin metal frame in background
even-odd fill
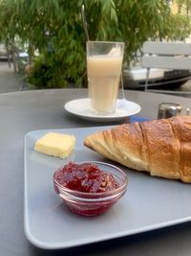
[[[171,70],[191,70],[191,43],[146,41],[142,46],[141,65],[147,68],[145,91],[191,94],[191,91],[149,89],[151,68]]]

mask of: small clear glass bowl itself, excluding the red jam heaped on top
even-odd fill
[[[98,169],[107,174],[113,175],[117,181],[117,188],[106,192],[79,192],[77,190],[69,189],[59,183],[57,178],[60,169],[53,174],[53,187],[56,194],[68,205],[68,207],[77,214],[83,216],[96,216],[108,211],[119,198],[121,198],[127,189],[127,175],[112,164],[97,162],[97,161],[83,161],[75,164],[90,163],[96,165]]]

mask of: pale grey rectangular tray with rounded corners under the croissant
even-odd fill
[[[71,160],[109,160],[83,146],[85,136],[109,127],[54,129],[74,134]],[[50,130],[34,130],[25,136],[25,233],[41,248],[67,248],[191,221],[191,185],[153,177],[128,168],[126,195],[107,213],[82,217],[72,213],[53,191],[53,172],[66,160],[33,151],[34,142]],[[118,165],[119,166],[119,165]]]

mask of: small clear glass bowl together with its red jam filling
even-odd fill
[[[108,163],[70,162],[54,172],[53,187],[74,213],[96,216],[125,194],[127,175]]]

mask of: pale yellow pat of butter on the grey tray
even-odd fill
[[[74,142],[73,135],[48,132],[35,142],[34,151],[66,158],[74,151]]]

